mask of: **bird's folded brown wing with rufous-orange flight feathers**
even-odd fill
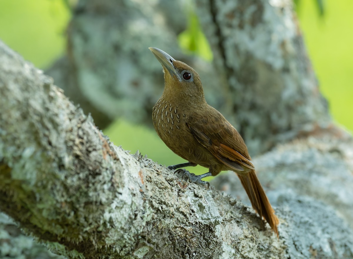
[[[197,141],[223,164],[236,171],[254,169],[243,138],[217,110],[205,116],[190,117],[187,122]]]

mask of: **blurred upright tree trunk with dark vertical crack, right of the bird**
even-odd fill
[[[251,154],[329,126],[292,1],[197,1],[196,10]]]

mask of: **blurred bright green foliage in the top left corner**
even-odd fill
[[[44,68],[64,52],[69,18],[62,0],[0,0],[0,39]]]

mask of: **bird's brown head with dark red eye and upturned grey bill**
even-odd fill
[[[175,60],[161,49],[150,47],[150,51],[162,64],[164,71],[164,94],[192,102],[205,102],[198,73],[185,63]]]

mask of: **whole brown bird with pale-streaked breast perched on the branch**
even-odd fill
[[[152,109],[153,125],[162,141],[189,163],[178,169],[201,165],[209,172],[195,175],[179,169],[190,182],[209,186],[201,179],[222,170],[237,173],[252,207],[264,217],[278,237],[279,220],[259,182],[243,138],[215,108],[207,104],[199,75],[190,66],[158,48],[149,48],[163,66],[164,90]]]

